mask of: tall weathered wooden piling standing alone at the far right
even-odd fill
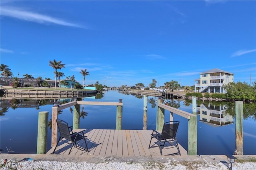
[[[234,154],[243,154],[243,102],[236,101],[236,150]]]

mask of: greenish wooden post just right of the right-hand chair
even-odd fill
[[[188,155],[197,155],[197,116],[188,120]]]

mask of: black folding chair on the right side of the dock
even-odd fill
[[[180,149],[179,149],[178,141],[177,141],[177,138],[176,138],[176,133],[177,133],[177,130],[178,130],[179,123],[180,123],[179,121],[168,121],[168,122],[164,123],[162,133],[159,133],[158,131],[152,129],[153,131],[152,131],[152,134],[151,134],[151,139],[150,139],[148,149],[150,149],[150,144],[151,144],[152,138],[156,138],[156,140],[157,140],[156,142],[157,142],[157,144],[159,146],[159,149],[160,149],[160,154],[162,155],[161,146],[164,147],[164,144],[165,144],[166,140],[171,139],[171,140],[168,140],[168,141],[169,142],[170,141],[172,141],[172,142],[175,141],[175,143],[176,143],[175,146],[178,149],[178,152],[180,154]],[[164,144],[160,145],[160,143],[162,141],[164,141]],[[154,145],[152,145],[152,146],[154,146]]]

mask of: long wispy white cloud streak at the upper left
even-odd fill
[[[86,28],[76,23],[71,23],[68,21],[64,21],[62,19],[54,18],[51,16],[43,15],[43,14],[38,14],[35,12],[29,12],[29,11],[26,11],[20,8],[14,8],[14,7],[1,6],[1,15],[11,17],[11,18],[18,18],[20,20],[42,23],[42,24],[54,23],[57,25]]]

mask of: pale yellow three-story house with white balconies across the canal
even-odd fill
[[[200,73],[195,81],[195,92],[224,93],[224,84],[234,82],[234,74],[218,68]]]

